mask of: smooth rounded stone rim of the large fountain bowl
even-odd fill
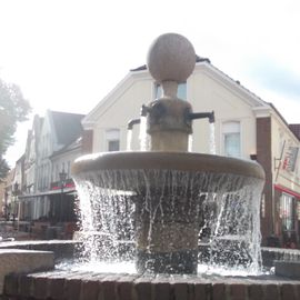
[[[174,170],[228,173],[264,180],[263,168],[256,161],[237,158],[164,151],[116,151],[79,157],[72,164],[72,176],[100,170]]]

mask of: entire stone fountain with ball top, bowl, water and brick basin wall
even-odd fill
[[[11,254],[3,249],[1,299],[300,299],[300,281],[289,279],[299,279],[293,258],[299,261],[298,250],[264,249],[271,254],[264,264],[279,268],[277,276],[260,274],[262,168],[187,151],[192,120],[214,120],[213,112],[193,112],[177,98],[177,84],[193,66],[194,51],[186,38],[159,37],[150,48],[148,68],[164,93],[130,121],[147,122],[150,151],[98,153],[76,161],[82,258],[91,263],[49,271],[50,252],[36,258],[37,252]],[[284,264],[287,254],[291,258]],[[132,260],[133,273],[128,264],[121,269]],[[104,261],[100,269],[99,261]],[[111,261],[117,261],[116,271],[109,268]],[[224,274],[224,269],[233,272]],[[256,277],[241,278],[237,269]]]

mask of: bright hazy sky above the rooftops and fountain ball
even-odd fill
[[[88,113],[164,32],[300,122],[298,0],[0,0],[0,78],[33,108]],[[24,150],[19,127],[7,158]]]

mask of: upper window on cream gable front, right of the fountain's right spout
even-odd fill
[[[226,122],[222,126],[223,154],[227,157],[241,157],[240,122]]]

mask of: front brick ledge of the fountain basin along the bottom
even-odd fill
[[[299,298],[299,280],[274,276],[220,278],[57,270],[7,276],[4,296],[0,299],[291,300]]]

